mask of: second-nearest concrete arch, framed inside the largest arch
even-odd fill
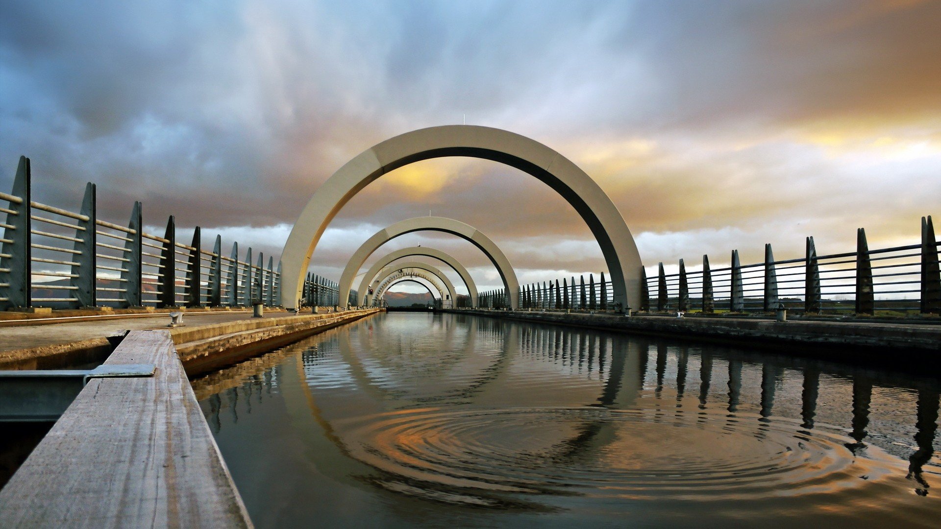
[[[518,303],[519,281],[517,281],[516,272],[513,271],[513,265],[510,264],[506,256],[503,255],[502,250],[497,247],[496,243],[494,243],[490,237],[487,237],[482,232],[478,232],[477,229],[470,226],[470,224],[465,224],[454,218],[444,216],[416,216],[414,218],[407,218],[392,224],[384,230],[375,232],[375,235],[362,243],[362,246],[356,250],[353,257],[350,257],[349,262],[346,263],[346,267],[343,268],[343,274],[340,276],[340,299],[347,299],[349,297],[350,288],[353,286],[353,280],[356,278],[359,268],[366,263],[366,259],[369,259],[369,256],[372,255],[377,248],[400,235],[423,231],[451,233],[470,241],[471,244],[480,248],[490,259],[490,262],[497,267],[497,272],[500,274],[503,286],[506,288],[506,292],[510,294],[511,303],[514,303],[514,307],[518,306],[516,303]],[[287,274],[285,274],[284,277],[287,278]]]

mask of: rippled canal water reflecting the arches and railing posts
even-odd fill
[[[380,313],[193,386],[258,527],[941,521],[936,378]]]

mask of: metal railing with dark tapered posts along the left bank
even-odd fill
[[[183,244],[173,216],[163,236],[144,232],[139,201],[126,226],[100,219],[95,184],[86,185],[79,213],[32,200],[31,192],[30,162],[21,156],[11,193],[0,193],[0,310],[281,305],[273,257],[265,266],[259,252],[252,263],[251,248],[240,256],[238,243],[223,255],[220,235],[212,251],[201,248],[199,227]],[[330,283],[310,281],[316,286],[306,289]]]

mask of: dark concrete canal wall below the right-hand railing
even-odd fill
[[[773,319],[728,316],[680,318],[487,309],[443,312],[692,338],[730,345],[758,345],[833,359],[885,359],[886,353],[904,353],[905,360],[941,363],[939,325],[813,320],[776,322]],[[893,358],[899,360],[899,357]]]

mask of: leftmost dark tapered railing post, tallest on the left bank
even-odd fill
[[[20,156],[11,191],[20,201],[9,202],[3,245],[0,245],[0,309],[28,309],[33,305],[32,248],[29,246],[31,172],[29,158]]]

